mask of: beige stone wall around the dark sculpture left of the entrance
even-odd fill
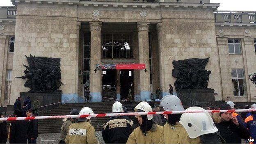
[[[17,7],[13,85],[11,101],[26,80],[15,78],[24,74],[25,55],[60,57],[63,94],[78,94],[78,32],[75,6],[25,5]]]

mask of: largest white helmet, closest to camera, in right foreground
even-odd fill
[[[206,111],[201,107],[189,107],[185,111]],[[200,135],[215,133],[218,131],[213,119],[207,112],[183,113],[180,123],[186,129],[190,138],[194,139]]]

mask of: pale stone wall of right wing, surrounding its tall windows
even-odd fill
[[[219,49],[219,61],[222,71],[222,91],[223,99],[234,102],[256,101],[255,84],[248,77],[248,73],[256,71],[256,55],[254,50],[254,39],[256,39],[256,29],[247,25],[238,26],[230,23],[231,26],[216,26],[216,37]],[[246,30],[250,32],[245,33]],[[228,39],[240,39],[242,54],[229,54]],[[231,83],[231,69],[244,69],[246,96],[234,96],[233,85]]]

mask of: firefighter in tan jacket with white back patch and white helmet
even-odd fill
[[[90,107],[83,107],[79,114],[94,114]],[[98,144],[91,117],[78,118],[78,121],[69,126],[66,135],[66,144]]]

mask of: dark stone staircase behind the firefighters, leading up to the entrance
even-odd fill
[[[112,113],[112,105],[114,102],[101,102],[101,103],[66,103],[55,107],[53,110],[41,112],[40,116],[53,116],[53,115],[66,115],[73,109],[81,110],[82,107],[90,107],[94,114],[100,113]],[[126,103],[122,102],[123,106],[128,111],[132,110],[133,106],[136,106],[139,102]],[[91,124],[94,126],[96,131],[102,129],[103,123],[107,121],[109,117],[102,118],[91,118]],[[59,133],[62,126],[62,119],[40,119],[38,121],[38,133]]]

